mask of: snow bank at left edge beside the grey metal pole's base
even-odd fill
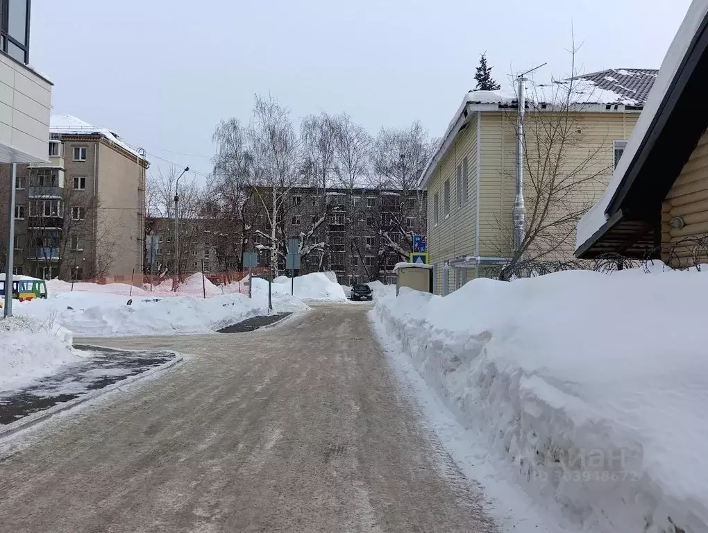
[[[17,389],[81,360],[72,349],[72,334],[55,321],[26,316],[0,320],[0,391]]]

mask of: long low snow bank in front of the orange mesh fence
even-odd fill
[[[18,316],[54,319],[81,336],[174,335],[209,333],[241,320],[267,314],[261,302],[243,294],[211,298],[153,298],[92,292],[62,292],[49,299],[16,302]]]

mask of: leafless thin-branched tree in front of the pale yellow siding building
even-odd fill
[[[576,226],[612,173],[609,132],[583,120],[583,113],[598,100],[598,91],[578,77],[577,50],[573,44],[567,79],[547,86],[531,84],[523,135],[525,234],[511,250],[502,279],[508,279],[520,262],[569,259]],[[508,117],[514,132],[515,118]],[[509,172],[507,178],[513,180],[515,174]],[[496,248],[502,256],[513,243],[510,217],[497,222],[501,239]]]

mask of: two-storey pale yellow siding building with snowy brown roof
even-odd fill
[[[566,113],[572,124],[564,143],[549,140],[548,133],[556,127],[553,120],[559,120],[553,118],[559,115],[559,105],[550,98],[548,103],[539,99],[544,90],[557,89],[542,88],[530,95],[523,144],[527,227],[537,216],[536,198],[544,194],[543,181],[548,178],[543,174],[550,173],[544,168],[548,165],[544,154],[549,151],[562,150],[562,156],[554,159],[558,168],[553,172],[573,176],[581,183],[559,202],[561,207],[554,205],[549,219],[564,217],[563,207],[589,208],[598,200],[656,74],[649,69],[617,69],[578,79],[581,94],[576,98],[581,103],[566,105],[560,112]],[[485,270],[506,264],[513,256],[517,116],[513,93],[470,91],[423,173],[421,184],[428,190],[428,252],[437,294],[447,294],[467,280],[484,276]],[[534,243],[531,248],[536,249],[530,248],[530,255],[534,252],[544,260],[572,259],[574,224],[562,231],[559,224],[557,234],[552,229]],[[552,252],[543,255],[540,246]]]

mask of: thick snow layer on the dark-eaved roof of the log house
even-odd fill
[[[683,58],[687,52],[689,52],[693,36],[698,28],[700,28],[707,13],[708,0],[693,0],[683,19],[683,23],[681,23],[680,28],[678,28],[678,32],[661,63],[661,69],[659,69],[656,81],[653,83],[651,91],[649,91],[644,110],[642,110],[641,115],[639,115],[639,120],[636,121],[632,135],[630,135],[629,141],[627,142],[627,147],[624,148],[624,153],[619,159],[617,168],[615,168],[615,171],[612,173],[610,184],[607,185],[607,189],[602,197],[600,197],[598,203],[596,203],[578,223],[576,249],[590,239],[590,237],[595,234],[595,231],[603,227],[607,221],[605,210],[607,210],[612,197],[617,192],[620,183],[622,183],[622,178],[624,178],[624,174],[632,163],[636,151],[643,142],[644,136],[653,122],[654,115],[656,115],[660,108],[664,96],[666,96],[666,92],[670,88],[671,82],[678,71],[678,67],[681,62],[683,62]]]

